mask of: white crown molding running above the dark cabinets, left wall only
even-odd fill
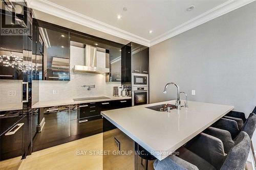
[[[83,25],[83,26],[116,36],[116,37],[120,37],[120,38],[129,40],[135,43],[139,43],[145,46],[150,46],[150,40],[147,40],[145,38],[134,35],[132,33],[123,31],[116,27],[110,26],[104,22],[98,21],[86,15],[82,15],[70,9],[61,7],[49,1],[29,0],[28,6],[32,9],[45,12],[50,15],[54,15],[63,19],[67,19],[69,21],[78,23],[80,25]]]

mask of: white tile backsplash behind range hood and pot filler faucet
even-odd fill
[[[73,71],[75,64],[84,64],[83,53],[84,50],[82,48],[70,47],[70,81],[39,81],[39,101],[113,95],[113,86],[120,86],[120,82],[105,82],[105,74]],[[95,88],[91,90],[81,87],[82,85],[94,84]]]

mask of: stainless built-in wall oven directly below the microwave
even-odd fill
[[[148,104],[148,87],[132,87],[132,106]]]

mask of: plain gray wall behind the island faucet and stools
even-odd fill
[[[248,115],[256,106],[255,9],[253,2],[150,47],[150,102],[176,98],[174,86],[162,93],[176,82],[189,100]]]

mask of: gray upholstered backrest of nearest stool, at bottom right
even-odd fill
[[[243,170],[250,151],[250,137],[246,132],[241,132],[237,137],[234,147],[229,151],[221,170]]]

